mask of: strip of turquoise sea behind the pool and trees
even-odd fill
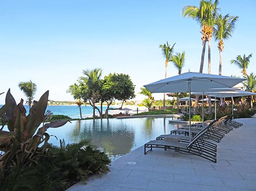
[[[3,105],[0,105],[0,108]],[[27,110],[27,115],[28,115],[28,105],[24,105],[24,107]],[[106,110],[107,106],[103,106],[103,112]],[[113,108],[113,107],[112,107]],[[80,118],[80,111],[79,108],[76,105],[48,105],[46,108],[46,111],[50,110],[53,115],[67,115],[73,119]],[[92,106],[81,106],[81,111],[82,111],[82,117],[92,117],[93,116],[93,107]],[[99,113],[97,109],[95,109],[95,115],[99,116]]]

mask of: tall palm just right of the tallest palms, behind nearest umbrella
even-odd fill
[[[223,40],[227,40],[231,37],[232,33],[236,29],[236,21],[238,16],[229,16],[229,14],[222,17],[218,15],[214,27],[213,36],[215,40],[218,40],[218,49],[220,51],[220,66],[219,75],[222,75],[222,51],[224,50]]]

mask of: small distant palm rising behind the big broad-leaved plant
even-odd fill
[[[32,83],[32,81],[30,80],[29,82],[20,82],[19,83],[19,88],[21,91],[23,91],[23,93],[25,94],[25,96],[27,96],[27,102],[28,106],[29,106],[29,110],[31,108],[31,104],[32,104],[32,100],[34,99],[34,95],[36,92],[36,84]]]

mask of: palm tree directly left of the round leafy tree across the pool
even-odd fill
[[[95,68],[94,70],[83,70],[83,74],[86,77],[80,77],[80,80],[84,81],[91,91],[91,101],[93,106],[93,117],[95,116],[95,102],[100,96],[100,79],[101,79],[101,69]]]

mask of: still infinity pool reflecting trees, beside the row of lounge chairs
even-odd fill
[[[48,142],[60,145],[60,139],[66,143],[82,139],[92,140],[92,144],[105,151],[113,161],[118,157],[144,145],[161,134],[169,134],[171,130],[181,127],[169,124],[172,117],[164,118],[133,118],[133,119],[97,119],[71,121],[63,127],[49,128],[51,136]]]

